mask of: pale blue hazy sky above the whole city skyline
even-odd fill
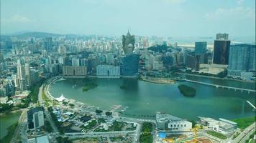
[[[1,34],[255,36],[255,0],[0,0]]]

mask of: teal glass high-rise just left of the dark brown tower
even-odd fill
[[[195,55],[199,55],[199,63],[207,64],[207,42],[206,41],[198,41],[195,44]]]

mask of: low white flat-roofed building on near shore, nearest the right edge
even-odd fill
[[[237,123],[229,121],[227,119],[219,118],[219,120],[207,118],[207,117],[198,117],[199,124],[207,126],[209,129],[212,129],[221,134],[229,134],[234,132],[237,129]]]

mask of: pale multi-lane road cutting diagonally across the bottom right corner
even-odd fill
[[[247,139],[249,139],[249,136],[255,131],[255,122],[251,124],[249,127],[244,129],[243,132],[241,132],[233,141],[232,143],[244,143]]]

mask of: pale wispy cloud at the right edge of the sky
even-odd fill
[[[205,14],[206,19],[254,19],[255,9],[235,7],[232,9],[217,9],[213,13]]]

